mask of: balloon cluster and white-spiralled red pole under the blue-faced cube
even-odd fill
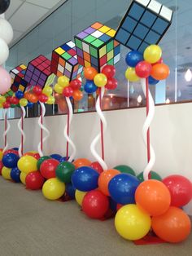
[[[159,80],[164,80],[169,75],[168,65],[163,63],[161,55],[161,48],[157,45],[151,45],[146,47],[143,55],[137,51],[130,51],[125,59],[126,63],[130,66],[125,72],[125,77],[130,82],[137,82],[141,79],[142,90],[146,96],[146,121],[142,128],[148,161],[143,172],[145,180],[151,177],[150,172],[155,164],[155,152],[151,146],[149,128],[155,114],[155,104],[149,90],[149,83],[155,85]]]

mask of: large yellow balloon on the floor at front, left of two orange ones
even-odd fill
[[[151,218],[137,205],[124,205],[116,213],[115,226],[120,236],[134,241],[146,236],[150,231]]]

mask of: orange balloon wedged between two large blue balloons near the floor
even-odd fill
[[[108,190],[108,184],[110,180],[115,177],[117,174],[120,174],[119,170],[111,169],[111,170],[104,170],[98,177],[98,188],[104,195],[110,196]]]

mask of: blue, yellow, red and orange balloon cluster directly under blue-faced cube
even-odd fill
[[[151,85],[164,80],[169,75],[168,65],[161,58],[162,50],[157,45],[146,47],[143,55],[138,51],[130,51],[125,58],[129,65],[125,77],[130,82],[137,82],[140,78],[148,78]]]

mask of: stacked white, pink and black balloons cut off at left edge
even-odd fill
[[[0,15],[7,11],[10,5],[10,0],[0,1]],[[13,29],[11,24],[4,18],[0,18],[0,94],[5,94],[11,87],[11,76],[7,71],[1,67],[9,56],[8,45],[13,38]]]

